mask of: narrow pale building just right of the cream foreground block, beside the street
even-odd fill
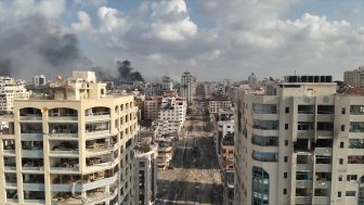
[[[134,204],[154,205],[157,194],[157,144],[147,140],[134,146]]]

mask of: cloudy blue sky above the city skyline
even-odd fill
[[[202,80],[242,80],[251,72],[282,78],[294,71],[341,79],[343,71],[364,64],[363,10],[361,0],[0,1],[0,27],[6,28],[0,29],[0,48],[24,29],[18,25],[41,16],[47,33],[35,34],[36,39],[44,35],[62,46],[62,35],[72,34],[77,57],[110,75],[116,61],[128,59],[147,79],[168,73],[178,80],[185,71]],[[35,38],[0,50],[16,65],[14,75],[25,75],[18,68],[24,59],[34,60],[25,64],[30,67],[26,75],[90,68],[70,62],[74,55],[67,64],[49,63],[43,53],[28,56],[24,50],[47,46]]]

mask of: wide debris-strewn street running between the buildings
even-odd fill
[[[197,113],[197,114],[196,114]],[[193,111],[176,144],[172,169],[158,170],[156,204],[222,204],[222,183],[209,117]]]

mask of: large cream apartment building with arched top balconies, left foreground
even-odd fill
[[[50,95],[14,101],[0,116],[4,204],[133,204],[132,95],[106,95],[93,72],[73,72]]]

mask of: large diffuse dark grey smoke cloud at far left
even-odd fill
[[[69,76],[74,69],[90,69],[74,34],[61,31],[41,14],[0,21],[0,75],[29,79]]]

